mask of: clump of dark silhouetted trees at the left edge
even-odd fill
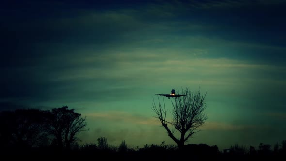
[[[16,109],[0,112],[1,152],[27,152],[51,147],[69,150],[78,141],[77,134],[86,128],[81,117],[68,106],[40,109]]]

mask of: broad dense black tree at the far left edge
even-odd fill
[[[16,109],[0,112],[0,142],[2,148],[36,147],[41,141],[44,125],[39,109]]]

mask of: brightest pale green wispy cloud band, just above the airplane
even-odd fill
[[[142,53],[142,54],[141,54]],[[76,70],[69,70],[61,73],[58,77],[53,77],[57,80],[72,80],[72,79],[90,79],[90,78],[133,78],[140,79],[138,74],[146,74],[146,77],[154,77],[155,75],[161,75],[162,78],[166,78],[168,73],[176,74],[204,74],[205,76],[211,77],[214,75],[220,75],[227,77],[232,72],[243,72],[244,76],[247,77],[250,72],[265,71],[285,71],[284,66],[275,66],[270,64],[255,64],[253,62],[239,61],[227,58],[209,59],[209,58],[194,58],[188,55],[176,55],[173,57],[173,53],[165,52],[165,57],[156,55],[155,53],[145,53],[144,51],[134,51],[130,53],[114,53],[106,54],[101,57],[89,57],[87,62],[93,62],[94,64],[105,62],[106,64],[112,64],[107,66],[104,70],[86,67],[79,68]],[[78,59],[78,64],[84,64],[86,58]],[[142,61],[144,60],[144,63]],[[108,72],[107,72],[108,71]],[[138,73],[140,71],[140,73]],[[124,72],[124,75],[122,74]],[[95,74],[96,73],[96,74]],[[242,73],[241,73],[242,74]],[[163,76],[164,75],[164,76]],[[237,76],[241,78],[241,76]],[[211,78],[214,79],[214,78]],[[249,78],[248,78],[249,79]],[[260,81],[270,81],[271,78],[265,77]],[[189,80],[191,81],[191,80]],[[205,80],[207,81],[207,80]],[[243,80],[240,80],[243,81]],[[279,81],[279,80],[272,80]]]

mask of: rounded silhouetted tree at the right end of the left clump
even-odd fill
[[[70,149],[71,143],[76,141],[76,134],[89,130],[85,129],[86,125],[86,117],[83,118],[74,109],[68,109],[68,106],[63,106],[50,111],[46,132],[56,138],[59,149],[62,149],[63,141],[65,147]]]

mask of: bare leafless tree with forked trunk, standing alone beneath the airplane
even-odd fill
[[[167,130],[168,136],[175,141],[178,148],[181,149],[184,143],[196,132],[198,128],[202,126],[207,120],[207,114],[204,112],[206,109],[205,97],[201,95],[201,90],[191,92],[188,88],[182,89],[182,94],[187,96],[176,97],[172,102],[172,121],[166,120],[166,107],[165,102],[163,105],[159,100],[159,106],[156,106],[154,98],[152,103],[152,110],[156,114],[156,118],[162,123],[162,126]],[[170,130],[168,123],[172,125],[175,129]],[[175,132],[180,133],[179,138],[175,137]]]

